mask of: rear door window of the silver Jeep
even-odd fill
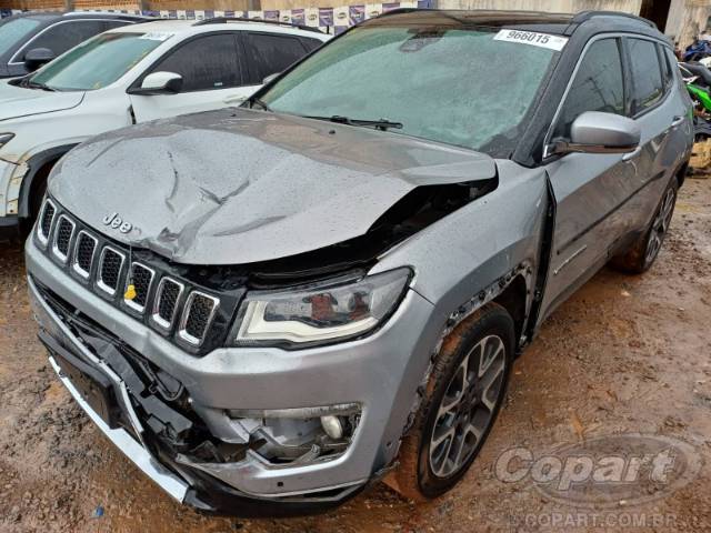
[[[664,94],[657,44],[643,39],[628,39],[632,71],[632,109],[634,114],[652,108]]]

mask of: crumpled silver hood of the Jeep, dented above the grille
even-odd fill
[[[50,194],[106,235],[187,264],[239,264],[363,235],[417,187],[495,175],[488,155],[364,128],[226,109],[94,138]],[[132,224],[107,227],[111,213]]]

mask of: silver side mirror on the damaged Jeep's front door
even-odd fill
[[[630,153],[638,149],[642,130],[632,119],[587,111],[570,128],[570,140],[554,141],[553,153]]]

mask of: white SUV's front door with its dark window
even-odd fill
[[[246,83],[237,32],[201,34],[179,43],[137,81],[151,72],[182,76],[177,94],[131,94],[138,122],[239,105],[256,88]]]

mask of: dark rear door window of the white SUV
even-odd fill
[[[307,53],[299,39],[269,33],[246,33],[244,49],[254,67],[254,83],[261,83],[268,76],[286,70]]]

